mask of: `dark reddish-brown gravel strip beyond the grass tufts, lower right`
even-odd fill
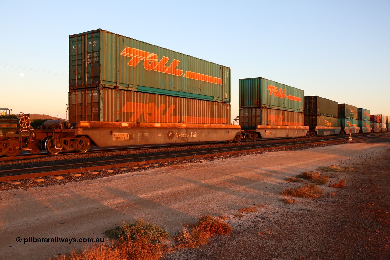
[[[356,171],[327,173],[346,180],[334,194],[295,199],[284,207],[262,205],[259,212],[243,217],[228,216],[231,235],[166,253],[162,259],[390,259],[390,146],[375,160],[358,157],[345,166]]]

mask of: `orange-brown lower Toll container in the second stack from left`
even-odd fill
[[[239,123],[243,130],[255,130],[258,125],[303,126],[304,114],[280,109],[241,108]]]

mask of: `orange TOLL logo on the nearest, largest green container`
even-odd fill
[[[143,50],[126,47],[121,52],[121,55],[130,57],[130,61],[128,62],[129,66],[135,67],[138,65],[138,63],[140,63],[140,61],[143,61],[144,68],[147,71],[154,70],[161,73],[167,73],[179,77],[183,75],[184,72],[183,70],[177,68],[177,66],[180,63],[179,60],[174,59],[168,65],[170,58],[163,56],[161,59],[159,59],[156,53],[150,53],[150,52],[145,52]],[[196,73],[193,71],[186,71],[183,77],[222,85],[222,78],[212,77],[209,75]]]

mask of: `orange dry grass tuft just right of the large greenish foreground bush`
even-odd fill
[[[207,239],[213,235],[229,235],[232,233],[232,228],[225,222],[211,217],[210,215],[203,216],[195,225],[182,225],[183,231],[174,237],[174,240],[181,247],[194,248],[204,245]]]

